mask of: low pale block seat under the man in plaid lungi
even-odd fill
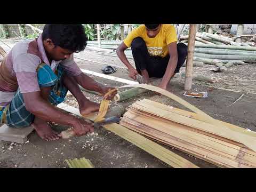
[[[33,126],[23,128],[11,128],[6,124],[0,127],[0,140],[17,143],[25,143],[27,136],[34,130]]]

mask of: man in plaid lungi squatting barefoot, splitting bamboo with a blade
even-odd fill
[[[86,76],[74,61],[73,53],[83,51],[86,41],[82,25],[49,24],[34,41],[17,43],[0,66],[1,123],[13,128],[32,124],[44,140],[60,137],[47,122],[70,125],[76,135],[93,132],[91,124],[55,107],[69,90],[86,115],[98,111],[99,104],[86,99],[78,84],[102,94],[114,89]]]

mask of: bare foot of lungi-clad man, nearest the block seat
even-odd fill
[[[43,119],[35,117],[34,123],[31,125],[34,126],[38,136],[43,140],[52,141],[59,139],[58,133],[53,131],[50,125]]]

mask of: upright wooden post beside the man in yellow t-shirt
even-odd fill
[[[193,77],[193,58],[195,50],[196,40],[196,24],[189,25],[189,37],[188,37],[188,55],[186,63],[186,79],[185,79],[185,90],[191,90],[192,88],[192,77]]]

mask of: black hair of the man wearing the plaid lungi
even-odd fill
[[[49,38],[55,46],[73,52],[83,51],[87,45],[87,36],[82,24],[46,24],[42,38]]]

